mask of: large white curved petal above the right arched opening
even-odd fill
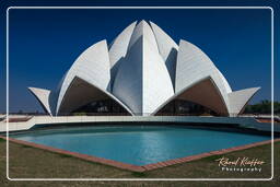
[[[228,91],[230,90],[229,84],[224,83],[226,80],[221,78],[220,71],[202,50],[186,40],[180,40],[176,65],[175,92],[177,93],[206,77],[211,77],[222,94],[226,107],[229,107]]]

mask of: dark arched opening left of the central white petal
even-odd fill
[[[63,96],[58,115],[95,116],[105,114],[130,115],[128,109],[109,93],[75,77]]]

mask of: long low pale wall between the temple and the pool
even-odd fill
[[[258,122],[253,117],[200,117],[200,116],[34,116],[27,121],[8,122],[9,131],[27,130],[36,126],[83,124],[83,122],[184,122],[184,124],[226,124],[238,125],[260,131],[271,131],[271,125]],[[0,132],[7,131],[7,122],[0,122]],[[279,124],[275,124],[275,131],[280,132]]]

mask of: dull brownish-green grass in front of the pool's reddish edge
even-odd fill
[[[1,139],[0,139],[1,140]],[[77,157],[51,153],[48,151],[10,143],[10,177],[11,178],[225,178],[225,177],[270,177],[270,145],[260,145],[236,151],[224,156],[229,159],[257,157],[265,161],[261,172],[224,172],[218,166],[217,159],[209,156],[198,161],[177,164],[144,173],[136,173],[86,162]],[[10,182],[5,178],[5,141],[0,141],[0,186],[279,186],[280,155],[275,156],[275,178],[271,182]],[[280,142],[275,144],[279,153]]]

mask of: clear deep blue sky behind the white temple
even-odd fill
[[[185,39],[197,45],[224,74],[233,91],[261,86],[252,103],[270,100],[269,9],[10,10],[10,110],[42,110],[27,86],[55,89],[83,50],[102,39],[109,44],[131,22],[141,20],[154,22],[177,44]],[[1,51],[4,50],[2,45]],[[2,85],[4,69],[1,69],[0,112],[5,109]],[[277,93],[276,85],[275,97],[279,101]]]

